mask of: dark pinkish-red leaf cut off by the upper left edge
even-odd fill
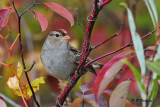
[[[0,30],[7,25],[10,11],[11,8],[0,9]]]

